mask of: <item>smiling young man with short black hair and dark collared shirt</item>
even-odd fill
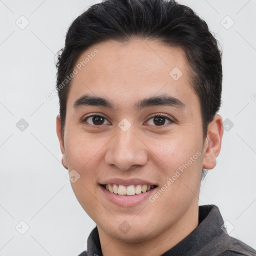
[[[189,7],[105,0],[58,56],[57,135],[96,223],[80,255],[255,255],[226,234],[200,181],[221,147],[221,52]]]

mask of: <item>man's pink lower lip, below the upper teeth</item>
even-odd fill
[[[102,192],[105,194],[106,198],[120,206],[134,206],[137,204],[140,204],[141,202],[145,201],[148,199],[151,193],[154,193],[155,188],[146,191],[146,192],[141,192],[139,194],[134,194],[134,195],[119,195],[115,193],[111,193],[108,190],[106,190],[102,185],[99,185],[100,189]]]

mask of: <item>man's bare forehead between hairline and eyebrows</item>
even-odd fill
[[[77,74],[70,82],[67,105],[86,93],[107,95],[120,106],[157,93],[177,98],[193,93],[197,98],[184,51],[159,41],[108,40],[94,44],[80,54],[74,68]]]

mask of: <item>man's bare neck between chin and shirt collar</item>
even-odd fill
[[[191,233],[197,225],[198,204],[191,205],[177,222],[166,227],[159,235],[141,242],[125,242],[109,236],[100,227],[97,228],[103,256],[160,256]]]

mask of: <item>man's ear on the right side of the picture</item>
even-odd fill
[[[221,147],[222,135],[222,118],[219,114],[216,114],[213,121],[208,125],[207,135],[204,141],[204,157],[202,162],[204,169],[212,169],[215,167],[216,157]]]

